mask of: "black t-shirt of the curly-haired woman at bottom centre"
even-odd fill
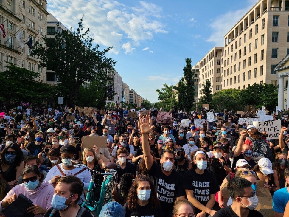
[[[157,206],[152,209],[150,204],[145,206],[140,206],[137,204],[135,210],[130,210],[127,208],[128,203],[125,203],[123,209],[125,210],[125,217],[142,217],[142,216],[150,216],[150,217],[163,217],[163,213],[161,211],[161,206]]]

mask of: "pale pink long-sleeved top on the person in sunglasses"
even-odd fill
[[[41,185],[34,190],[28,190],[26,187],[24,187],[23,183],[16,185],[8,192],[2,201],[12,196],[14,193],[17,196],[22,193],[24,196],[30,199],[34,205],[39,205],[46,210],[52,207],[51,201],[54,195],[54,187],[49,185],[48,182],[42,182]],[[2,201],[0,202],[0,211],[4,210],[2,208]],[[42,215],[35,215],[35,217],[42,217]]]

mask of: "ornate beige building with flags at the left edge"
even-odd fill
[[[0,24],[4,23],[6,38],[0,35],[0,71],[4,71],[7,63],[12,62],[20,67],[39,72],[36,81],[46,82],[46,68],[39,68],[38,58],[30,55],[30,49],[25,44],[22,49],[16,35],[22,33],[24,40],[32,38],[32,45],[36,41],[44,43],[42,36],[46,35],[45,0],[0,0]]]

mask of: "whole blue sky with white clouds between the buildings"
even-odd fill
[[[75,28],[84,16],[94,42],[116,64],[123,82],[150,102],[156,89],[175,85],[185,58],[197,63],[257,0],[47,0],[47,11],[66,27]]]

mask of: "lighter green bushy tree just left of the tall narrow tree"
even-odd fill
[[[161,106],[164,111],[170,111],[170,109],[176,105],[174,86],[168,86],[167,84],[163,84],[163,86],[161,90],[156,89],[156,92],[159,94],[159,100],[161,100],[159,106]]]

